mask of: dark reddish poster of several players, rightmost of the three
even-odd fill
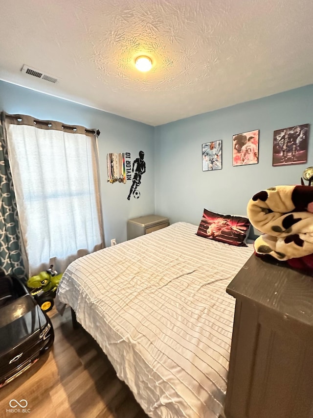
[[[308,160],[309,123],[274,131],[273,166],[304,164]]]

